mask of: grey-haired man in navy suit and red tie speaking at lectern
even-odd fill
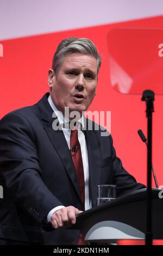
[[[111,136],[83,116],[100,66],[89,39],[61,41],[48,71],[49,93],[1,120],[2,243],[80,244],[80,231],[70,226],[96,206],[97,185],[116,184],[117,196],[143,187],[122,167]],[[79,115],[70,129],[73,111]]]

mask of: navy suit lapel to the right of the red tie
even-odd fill
[[[95,132],[86,130],[86,144],[89,157],[89,186],[91,192],[92,207],[96,206],[97,185],[101,176],[101,161],[99,144]]]

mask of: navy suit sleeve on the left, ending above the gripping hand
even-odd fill
[[[48,212],[63,205],[42,181],[35,135],[20,113],[9,113],[0,121],[0,172],[15,204],[39,223]]]

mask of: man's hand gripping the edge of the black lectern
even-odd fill
[[[67,206],[54,212],[51,217],[51,223],[55,229],[68,228],[76,223],[76,216],[80,214],[80,212],[82,211],[79,211],[73,206]]]

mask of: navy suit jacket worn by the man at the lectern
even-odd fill
[[[48,212],[58,205],[84,210],[76,171],[61,130],[54,131],[48,95],[33,106],[13,111],[0,121],[0,241],[11,244],[76,244],[79,230],[48,230]],[[91,122],[87,120],[87,122]],[[116,184],[117,196],[144,187],[116,157],[111,136],[85,131],[89,189],[96,206],[97,185]]]

